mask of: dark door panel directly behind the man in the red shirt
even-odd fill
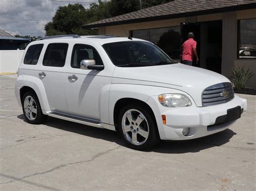
[[[182,38],[181,43],[181,52],[182,52],[182,45],[188,39],[187,34],[188,32],[194,33],[194,40],[197,41],[197,54],[200,59],[200,24],[199,23],[181,23],[180,24],[180,33]],[[193,60],[193,66],[200,67],[200,62],[197,64],[196,59]]]

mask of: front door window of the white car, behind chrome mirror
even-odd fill
[[[80,68],[82,60],[95,60],[96,65],[103,65],[102,59],[95,48],[90,45],[75,44],[71,57],[71,67]]]

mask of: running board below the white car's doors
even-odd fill
[[[70,121],[70,122],[94,126],[95,128],[103,128],[102,124],[100,124],[100,123],[89,121],[89,120],[78,118],[78,117],[68,116],[68,115],[64,115],[64,114],[58,114],[56,112],[49,112],[48,115],[51,117],[58,118],[58,119],[64,119],[64,120]]]

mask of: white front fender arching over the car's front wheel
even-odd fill
[[[183,91],[171,88],[146,86],[139,84],[111,84],[109,94],[109,124],[114,124],[114,106],[118,100],[122,98],[134,98],[148,104],[154,112],[155,116],[160,115],[159,109],[156,109],[156,103],[147,102],[151,96],[158,96],[160,94],[168,93],[181,93],[186,94]],[[157,118],[157,117],[156,117]]]

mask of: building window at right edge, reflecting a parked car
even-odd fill
[[[256,59],[256,18],[238,20],[238,58]]]

